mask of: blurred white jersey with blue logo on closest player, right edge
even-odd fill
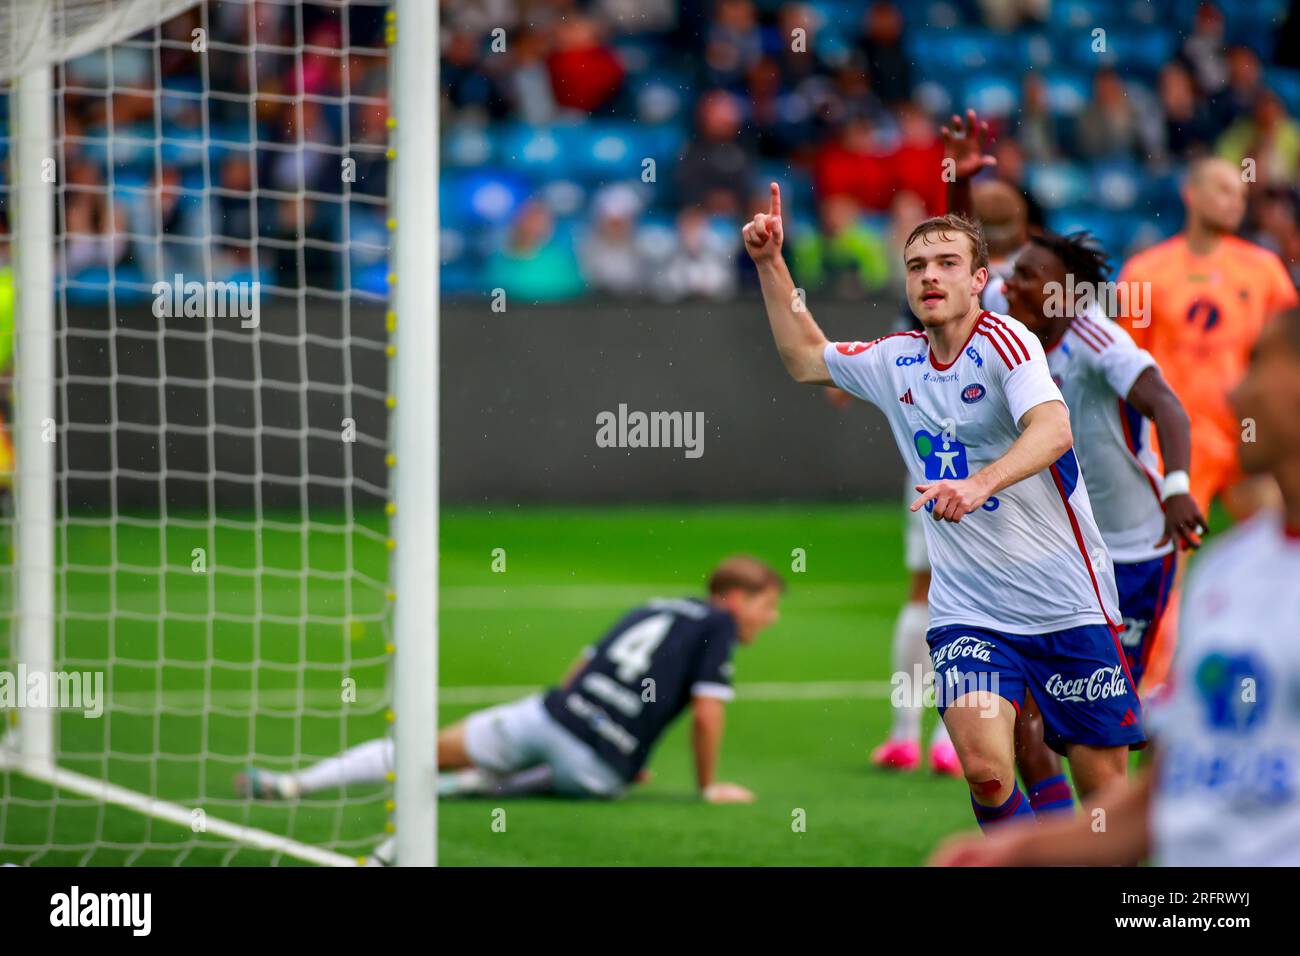
[[[1300,866],[1300,531],[1278,515],[1192,566],[1152,719],[1158,862]]]

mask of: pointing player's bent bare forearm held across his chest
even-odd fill
[[[1041,402],[1026,411],[1020,428],[1020,436],[1001,458],[968,479],[916,485],[922,494],[911,503],[911,510],[918,511],[927,501],[933,501],[931,518],[959,522],[1004,488],[1037,475],[1074,445],[1070,411],[1061,401]]]

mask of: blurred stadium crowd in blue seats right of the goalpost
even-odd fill
[[[1251,159],[1244,230],[1300,280],[1300,26],[1284,3],[443,10],[448,294],[729,298],[750,281],[738,228],[770,179],[790,196],[801,287],[897,293],[901,237],[944,211],[939,129],[967,105],[993,131],[987,178],[1015,187],[1031,228],[1091,229],[1119,258],[1178,229],[1190,157]]]

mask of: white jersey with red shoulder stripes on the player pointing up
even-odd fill
[[[1062,401],[1043,345],[982,312],[950,365],[924,332],[826,347],[835,384],[879,407],[915,484],[970,477],[1020,436],[1020,418]],[[989,498],[959,524],[927,522],[931,627],[1045,633],[1118,624],[1114,568],[1074,451]]]

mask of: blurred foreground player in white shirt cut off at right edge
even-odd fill
[[[949,866],[1135,864],[1300,865],[1300,310],[1261,333],[1231,393],[1247,475],[1271,475],[1282,512],[1264,511],[1192,566],[1156,758],[1117,783],[1091,817],[949,840]]]

